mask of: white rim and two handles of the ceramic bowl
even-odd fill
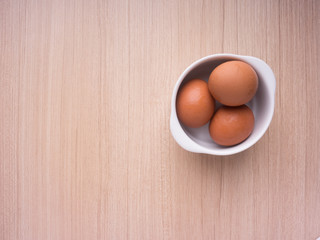
[[[268,99],[270,101],[270,107],[267,109],[267,119],[265,120],[265,125],[261,127],[261,130],[257,133],[257,135],[252,139],[251,141],[244,140],[242,143],[232,146],[232,147],[226,147],[223,149],[210,149],[205,146],[200,145],[199,143],[195,142],[192,138],[190,138],[187,133],[183,130],[176,112],[176,97],[178,90],[180,88],[181,83],[185,79],[185,77],[188,75],[190,71],[198,67],[199,65],[212,60],[219,60],[219,59],[225,59],[225,60],[241,60],[248,64],[250,64],[255,69],[259,69],[259,72],[262,72],[262,75],[267,76],[266,78],[268,81],[265,81],[265,85],[267,87],[267,94]],[[264,78],[264,79],[266,79]],[[274,104],[275,104],[275,89],[276,89],[276,79],[274,76],[274,73],[270,66],[264,62],[263,60],[252,57],[252,56],[245,56],[245,55],[237,55],[237,54],[231,54],[231,53],[219,53],[219,54],[213,54],[208,55],[203,58],[200,58],[196,60],[195,62],[191,63],[179,76],[178,81],[176,82],[172,97],[171,97],[171,115],[170,115],[170,131],[175,139],[175,141],[185,150],[195,153],[204,153],[204,154],[210,154],[210,155],[217,155],[217,156],[228,156],[232,154],[236,154],[239,152],[242,152],[251,146],[253,146],[256,142],[259,141],[259,139],[262,138],[262,136],[267,131],[272,117],[274,113]]]

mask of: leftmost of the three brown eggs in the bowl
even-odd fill
[[[186,126],[196,128],[206,124],[214,112],[214,99],[207,82],[193,79],[184,84],[177,96],[177,115]]]

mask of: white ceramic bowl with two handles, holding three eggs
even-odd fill
[[[211,139],[208,124],[200,128],[189,128],[180,123],[176,112],[176,98],[183,82],[194,78],[208,81],[212,70],[223,62],[241,60],[250,64],[259,77],[259,87],[254,98],[247,103],[253,111],[255,126],[251,135],[242,143],[231,147],[220,146]],[[261,59],[234,54],[214,54],[192,63],[179,77],[171,99],[170,130],[176,142],[190,152],[211,155],[231,155],[254,145],[266,132],[274,111],[276,79],[271,68]],[[219,103],[216,101],[217,107]]]

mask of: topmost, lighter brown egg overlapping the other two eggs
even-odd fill
[[[208,85],[218,102],[227,106],[240,106],[249,102],[256,94],[258,76],[249,64],[229,61],[212,71]]]

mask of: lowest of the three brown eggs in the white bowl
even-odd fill
[[[232,146],[244,141],[254,127],[254,116],[249,107],[222,106],[214,114],[209,132],[211,138],[219,145]]]

